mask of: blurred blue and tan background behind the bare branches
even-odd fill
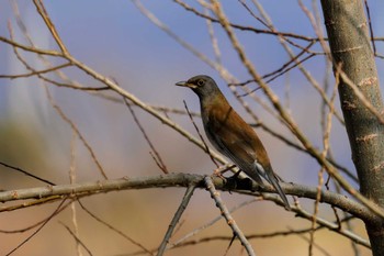
[[[2,1],[0,3],[0,35],[9,37],[7,25],[9,23],[15,40],[26,44],[18,27],[14,8],[12,8],[14,2],[19,7],[20,16],[35,45],[44,49],[58,49],[31,1]],[[199,2],[187,2],[202,10]],[[251,1],[245,2],[257,13]],[[314,10],[313,2],[316,1],[303,1],[309,10]],[[103,76],[116,80],[122,88],[142,101],[153,105],[183,110],[183,100],[185,100],[190,110],[199,112],[197,97],[191,90],[174,87],[174,84],[194,75],[205,74],[218,82],[234,108],[246,120],[252,122],[219,74],[151,23],[133,1],[57,0],[44,3],[70,54]],[[142,3],[180,38],[207,57],[215,59],[205,20],[187,12],[173,1],[142,1]],[[296,1],[263,0],[260,3],[279,31],[316,37],[308,18]],[[384,11],[384,2],[369,1],[369,5],[375,35],[382,36],[384,16],[381,13]],[[246,11],[240,1],[223,1],[223,7],[233,23],[264,29]],[[317,8],[320,10],[319,5]],[[221,48],[223,66],[240,81],[248,80],[249,75],[231,48],[226,34],[219,25],[213,24],[213,27]],[[236,31],[236,33],[261,75],[280,68],[290,59],[274,35],[241,31]],[[376,47],[381,53],[382,43],[377,42]],[[321,51],[319,46],[313,49]],[[294,52],[297,54],[300,51],[294,49]],[[44,65],[34,54],[24,52],[22,54],[33,67],[44,69]],[[3,59],[0,62],[1,75],[27,73],[9,45],[0,43],[0,58]],[[49,59],[56,64],[60,63],[55,58]],[[304,65],[320,85],[328,81],[332,89],[332,74],[329,68],[327,70],[324,55],[317,55]],[[377,70],[380,79],[383,80],[381,60],[377,60]],[[64,73],[70,79],[84,86],[100,86],[87,74],[75,68],[66,68]],[[102,179],[89,152],[79,140],[74,140],[71,127],[58,116],[49,103],[41,80],[29,77],[1,79],[0,82],[1,162],[23,168],[55,183],[69,183],[68,172],[72,152],[76,182]],[[290,108],[295,121],[314,145],[321,148],[319,122],[321,99],[302,73],[295,68],[269,85]],[[256,85],[250,87],[256,88]],[[58,88],[52,85],[48,88],[55,103],[84,135],[110,179],[161,174],[149,154],[148,144],[124,104],[86,91]],[[256,94],[264,99],[261,90]],[[245,99],[249,100],[250,107],[266,124],[294,140],[289,131],[262,107],[247,97]],[[338,100],[336,101],[339,105]],[[212,174],[215,166],[200,148],[148,113],[138,108],[134,110],[169,171]],[[341,112],[340,109],[338,111]],[[188,116],[169,115],[197,136]],[[195,121],[203,131],[200,119],[196,118]],[[275,171],[284,180],[308,186],[317,185],[317,172],[320,167],[314,159],[287,147],[260,129],[258,132],[269,152]],[[345,129],[335,119],[330,142],[337,162],[354,172]],[[9,168],[0,167],[0,189],[2,190],[45,186]],[[352,180],[351,182],[358,187]],[[127,190],[84,198],[82,202],[94,214],[151,249],[161,243],[183,193],[183,188]],[[223,192],[222,196],[229,208],[250,199],[227,192]],[[308,211],[313,211],[313,202],[304,199],[301,202]],[[57,205],[58,202],[55,202],[25,210],[2,212],[0,230],[14,231],[33,225],[52,214]],[[93,255],[129,255],[129,253],[140,251],[139,247],[97,222],[78,207],[77,214],[79,236]],[[218,214],[219,211],[215,208],[207,191],[196,190],[182,218],[183,224],[171,242],[210,222]],[[76,242],[63,225],[64,223],[72,227],[71,215],[68,208],[12,255],[76,255]],[[319,215],[335,221],[335,215],[329,207],[321,207]],[[250,203],[236,211],[234,218],[245,234],[267,234],[310,227],[310,222],[295,218],[293,213],[267,201]],[[353,222],[353,229],[355,233],[366,238],[361,222]],[[0,233],[0,255],[9,253],[33,232],[34,230],[15,234]],[[224,220],[201,232],[195,238],[222,235],[231,235]],[[307,255],[307,234],[296,234],[252,240],[251,244],[256,253],[263,256]],[[314,255],[352,255],[353,253],[350,241],[327,230],[316,232],[315,242],[320,247],[314,248]],[[169,251],[166,255],[224,255],[227,246],[228,241],[214,241]],[[370,255],[366,248],[359,246],[359,249],[360,255]],[[228,255],[241,255],[241,246],[238,241],[234,243]],[[242,255],[246,255],[245,252]]]

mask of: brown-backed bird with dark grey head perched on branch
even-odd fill
[[[260,138],[230,107],[215,80],[210,76],[199,75],[187,81],[179,81],[176,86],[190,88],[197,94],[204,131],[211,144],[229,158],[239,171],[244,171],[260,186],[263,186],[264,178],[280,194],[285,209],[290,210],[290,203]]]

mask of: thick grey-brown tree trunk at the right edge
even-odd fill
[[[383,103],[368,23],[361,0],[321,0],[334,66],[353,81],[366,100],[383,113]],[[360,191],[384,207],[384,125],[364,107],[346,80],[340,80],[339,96],[352,160],[360,180]],[[373,255],[384,255],[383,225],[365,222]]]

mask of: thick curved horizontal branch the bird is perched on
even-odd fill
[[[189,187],[191,183],[196,183],[196,188],[205,189],[203,183],[204,176],[191,175],[191,174],[169,174],[169,175],[158,175],[158,176],[147,176],[147,177],[135,177],[128,178],[123,177],[120,179],[110,180],[98,180],[89,181],[82,183],[71,183],[71,185],[57,185],[57,186],[46,186],[36,187],[27,189],[18,189],[0,192],[0,202],[25,200],[25,199],[42,199],[52,196],[88,196],[100,192],[110,192],[118,190],[129,190],[129,189],[148,189],[148,188],[168,188],[168,187]],[[228,185],[218,177],[213,178],[213,182],[217,190],[227,191]],[[296,196],[300,198],[316,199],[317,189],[314,187],[308,187],[304,185],[296,183],[281,183],[282,189],[286,194]],[[251,196],[258,196],[258,192],[272,192],[274,189],[269,186],[263,186],[260,188],[257,183],[252,183],[251,188],[245,189],[230,189],[233,193],[248,193]],[[258,191],[258,192],[252,192]],[[351,200],[345,194],[339,194],[331,191],[320,191],[320,202],[331,204],[359,218],[363,221],[370,223],[381,223],[382,219],[380,215],[373,213],[370,209],[362,205],[361,203]],[[0,208],[0,212],[4,211],[4,208]]]

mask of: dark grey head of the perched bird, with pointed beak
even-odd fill
[[[222,93],[216,82],[205,75],[199,75],[190,78],[188,81],[179,81],[176,85],[191,88],[200,98],[210,98]]]

